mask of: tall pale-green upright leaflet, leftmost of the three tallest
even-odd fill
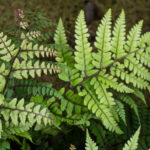
[[[85,22],[84,12],[80,11],[75,26],[75,67],[82,72],[82,77],[86,77],[92,69],[92,47],[88,42],[88,37],[89,34]]]

